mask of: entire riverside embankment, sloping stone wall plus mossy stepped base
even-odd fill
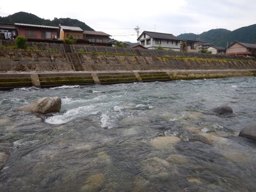
[[[0,89],[255,76],[256,60],[148,49],[64,45],[0,50]],[[61,51],[62,50],[62,51]]]

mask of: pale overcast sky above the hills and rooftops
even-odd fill
[[[137,42],[143,31],[175,36],[256,24],[255,0],[1,1],[0,16],[28,12],[39,18],[71,18],[120,41]],[[14,21],[15,22],[15,21]],[[33,24],[33,23],[31,23]]]

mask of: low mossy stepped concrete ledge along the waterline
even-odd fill
[[[256,76],[256,70],[134,70],[91,72],[5,72],[0,73],[0,90],[18,87],[118,84],[172,80],[196,80]]]

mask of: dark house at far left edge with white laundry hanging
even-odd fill
[[[10,40],[16,36],[16,27],[11,23],[0,23],[0,36],[1,39]]]

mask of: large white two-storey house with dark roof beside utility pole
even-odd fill
[[[181,39],[172,34],[143,31],[137,40],[143,47],[147,49],[157,49],[160,46],[164,49],[180,51]]]

